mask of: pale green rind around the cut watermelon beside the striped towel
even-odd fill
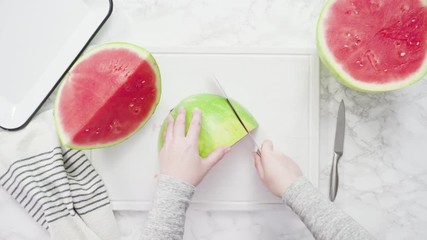
[[[155,72],[156,75],[156,86],[157,86],[157,99],[155,101],[155,103],[152,106],[152,109],[150,110],[149,114],[147,115],[146,119],[144,121],[141,122],[141,124],[135,129],[135,131],[129,133],[126,137],[121,138],[117,141],[114,142],[109,142],[109,143],[103,143],[103,144],[98,144],[98,145],[77,145],[77,144],[73,144],[71,141],[71,138],[69,136],[66,136],[66,133],[62,131],[61,128],[61,120],[60,117],[58,116],[58,109],[59,109],[59,99],[60,99],[60,94],[62,92],[62,88],[65,85],[66,79],[68,78],[68,74],[70,72],[73,71],[74,67],[77,66],[80,62],[82,62],[83,60],[87,59],[88,57],[92,56],[93,54],[105,50],[105,49],[111,49],[111,48],[126,48],[126,49],[130,49],[133,52],[137,53],[142,59],[146,59],[148,61],[148,63],[150,64],[150,66],[152,67],[153,71]],[[151,116],[154,114],[154,111],[156,110],[159,102],[160,102],[160,97],[161,97],[161,93],[162,93],[162,85],[161,85],[161,75],[160,75],[160,70],[158,67],[158,64],[156,62],[156,60],[154,59],[153,55],[147,51],[146,49],[132,44],[132,43],[127,43],[127,42],[111,42],[111,43],[106,43],[106,44],[102,44],[99,46],[95,46],[91,49],[89,49],[87,52],[85,52],[74,64],[73,67],[71,67],[71,69],[68,71],[68,73],[64,76],[64,78],[61,80],[61,84],[60,87],[58,89],[58,95],[56,96],[55,99],[55,107],[54,107],[54,118],[55,118],[55,126],[56,126],[56,130],[59,136],[59,140],[61,142],[62,145],[68,147],[68,148],[72,148],[72,149],[79,149],[79,150],[91,150],[91,149],[97,149],[97,148],[106,148],[106,147],[111,147],[113,145],[117,145],[121,142],[126,141],[127,139],[129,139],[131,136],[133,136],[136,132],[138,132],[142,127],[144,127],[144,125],[148,122],[148,120],[150,120]]]

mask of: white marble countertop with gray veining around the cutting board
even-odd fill
[[[94,44],[146,47],[315,47],[319,0],[116,0]],[[321,67],[320,190],[328,191],[338,103],[347,106],[336,204],[378,239],[427,239],[427,82],[360,93]],[[312,239],[289,210],[188,212],[185,239]],[[12,217],[11,217],[12,216]],[[146,213],[116,212],[123,239],[136,239]],[[49,239],[0,190],[0,239]]]

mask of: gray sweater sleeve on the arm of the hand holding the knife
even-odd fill
[[[366,240],[373,236],[304,177],[283,194],[284,202],[301,218],[317,240]]]

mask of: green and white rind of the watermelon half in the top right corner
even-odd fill
[[[363,91],[363,92],[387,92],[402,89],[404,87],[410,86],[419,80],[421,80],[427,74],[427,56],[424,58],[423,63],[419,67],[419,70],[406,77],[406,80],[395,81],[392,83],[364,83],[356,80],[350,76],[343,68],[342,65],[335,60],[335,57],[332,55],[332,52],[329,50],[329,47],[326,43],[326,39],[322,37],[324,33],[324,18],[327,16],[328,11],[333,3],[336,0],[328,0],[324,5],[319,18],[317,20],[317,49],[319,57],[332,75],[337,78],[342,84],[352,89]],[[427,5],[427,1],[423,0],[423,3]]]

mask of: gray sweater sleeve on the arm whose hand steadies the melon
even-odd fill
[[[195,187],[167,175],[159,175],[153,208],[141,239],[177,240],[184,235],[185,213]]]

